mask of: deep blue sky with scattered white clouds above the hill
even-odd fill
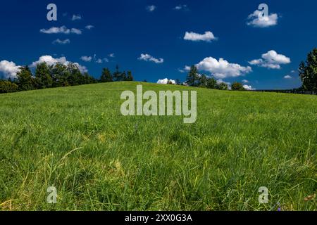
[[[50,3],[57,21],[46,19]],[[262,23],[251,17],[261,3],[268,5]],[[224,82],[295,88],[299,63],[316,47],[316,8],[313,0],[2,1],[0,74],[67,60],[94,77],[118,64],[137,80],[184,81],[185,67],[197,65]]]

